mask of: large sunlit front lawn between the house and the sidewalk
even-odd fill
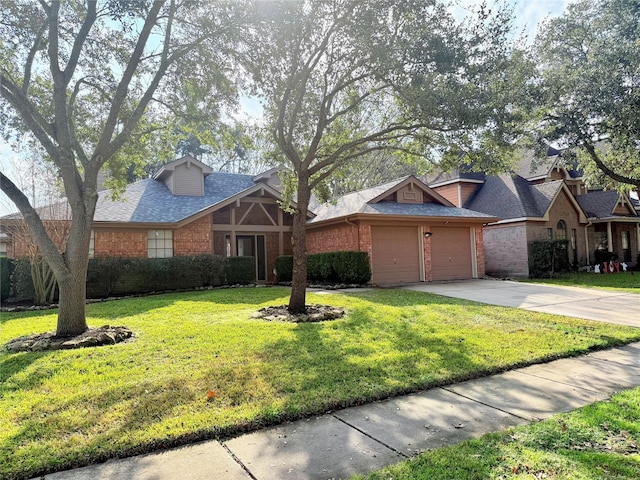
[[[405,290],[310,294],[344,306],[326,323],[269,323],[288,289],[168,294],[92,304],[91,326],[136,339],[0,352],[0,477],[224,437],[640,339],[640,329]],[[51,331],[56,312],[2,314],[0,345]],[[215,391],[207,401],[207,391]]]

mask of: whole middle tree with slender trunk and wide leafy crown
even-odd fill
[[[254,11],[242,55],[274,155],[293,172],[289,310],[298,312],[312,190],[381,150],[495,170],[512,147],[512,98],[527,73],[512,67],[521,57],[504,10],[480,7],[463,23],[436,0],[255,1]]]

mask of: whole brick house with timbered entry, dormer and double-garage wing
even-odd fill
[[[191,157],[175,160],[153,178],[127,186],[117,200],[100,195],[90,256],[253,256],[256,280],[271,282],[275,259],[291,254],[293,224],[278,205],[277,173],[213,172]],[[453,206],[415,177],[348,194],[313,210],[308,252],[366,251],[374,283],[484,275],[482,226],[496,220]],[[19,219],[19,214],[3,217],[3,228]],[[10,256],[24,254],[21,242],[13,240]]]

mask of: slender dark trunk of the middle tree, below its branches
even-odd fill
[[[304,181],[306,180],[306,181]],[[293,216],[293,272],[291,276],[291,297],[289,312],[304,313],[307,301],[307,213],[309,211],[308,179],[298,179],[298,206]]]

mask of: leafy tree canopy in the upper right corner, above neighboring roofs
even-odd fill
[[[534,128],[579,152],[585,173],[640,189],[640,3],[580,0],[547,21],[535,51]],[[541,130],[539,130],[541,127]],[[602,177],[602,175],[600,175]]]

